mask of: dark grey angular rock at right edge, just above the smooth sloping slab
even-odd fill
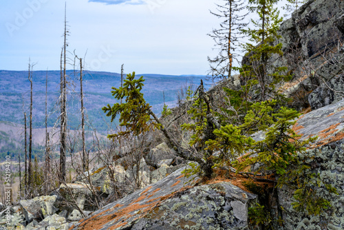
[[[334,77],[326,84],[323,83],[308,96],[312,109],[336,103],[344,98],[344,74]]]

